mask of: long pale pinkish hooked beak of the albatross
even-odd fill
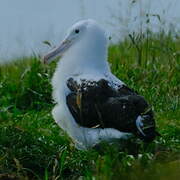
[[[63,40],[58,47],[54,48],[48,54],[42,57],[43,63],[48,64],[56,57],[62,56],[63,53],[71,46],[71,44],[72,41],[67,39]]]

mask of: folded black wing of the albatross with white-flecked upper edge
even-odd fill
[[[66,97],[67,105],[80,126],[114,128],[140,137],[154,133],[155,123],[149,105],[127,86],[114,89],[105,79],[81,80],[78,84],[73,78],[68,79],[67,86],[71,91]],[[144,130],[142,121],[147,121],[150,128]]]

